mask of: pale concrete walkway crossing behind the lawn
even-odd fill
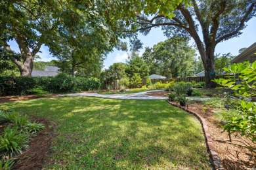
[[[148,92],[159,92],[163,90],[150,90],[145,92],[139,93],[123,93],[123,94],[98,94],[98,93],[69,93],[69,94],[60,94],[58,96],[87,96],[87,97],[102,97],[102,98],[109,98],[109,99],[135,99],[135,100],[166,100],[167,97],[157,97],[157,96],[150,96],[146,95]],[[209,98],[200,98],[200,97],[186,97],[190,100],[195,101],[204,101]]]

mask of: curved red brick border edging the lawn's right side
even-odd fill
[[[217,150],[213,144],[213,139],[211,138],[211,134],[209,133],[209,129],[208,129],[208,126],[206,124],[206,121],[204,118],[202,118],[199,114],[197,114],[196,112],[192,112],[184,107],[181,107],[180,105],[176,105],[174,103],[171,103],[170,101],[167,100],[167,102],[170,104],[170,105],[173,105],[175,107],[179,107],[181,108],[182,110],[190,113],[190,114],[194,114],[194,116],[196,116],[196,118],[198,118],[198,120],[200,121],[201,125],[202,125],[202,129],[203,129],[203,135],[205,137],[205,143],[206,143],[206,146],[207,146],[207,152],[210,154],[210,158],[211,158],[211,161],[213,163],[213,169],[216,169],[216,170],[221,170],[221,169],[224,169],[223,165],[221,165],[221,160],[217,154]]]

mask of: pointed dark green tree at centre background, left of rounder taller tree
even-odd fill
[[[148,76],[148,65],[136,54],[128,61],[125,73],[127,73],[129,78],[137,73],[140,78],[146,80]]]

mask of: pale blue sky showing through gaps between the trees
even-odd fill
[[[247,27],[242,32],[242,35],[239,37],[234,37],[217,44],[215,53],[226,54],[230,52],[232,56],[237,56],[240,48],[249,47],[251,44],[256,42],[256,17],[247,22]],[[160,27],[152,28],[150,33],[146,36],[139,33],[138,38],[143,43],[144,48],[146,46],[153,47],[154,44],[158,44],[158,42],[165,41],[167,39],[167,37],[163,35],[163,31],[161,31]],[[193,39],[190,40],[189,44],[194,45]],[[12,50],[19,52],[18,44],[16,44],[15,41],[12,41],[10,46]],[[144,48],[140,50],[140,55],[144,52]],[[38,53],[37,55],[39,55],[41,59],[37,59],[36,61],[51,61],[52,59],[56,59],[49,54],[49,48],[47,46],[41,46],[40,51],[41,53]],[[107,69],[113,63],[125,62],[128,58],[128,53],[129,51],[124,52],[114,48],[113,52],[110,52],[104,60],[104,69]]]

